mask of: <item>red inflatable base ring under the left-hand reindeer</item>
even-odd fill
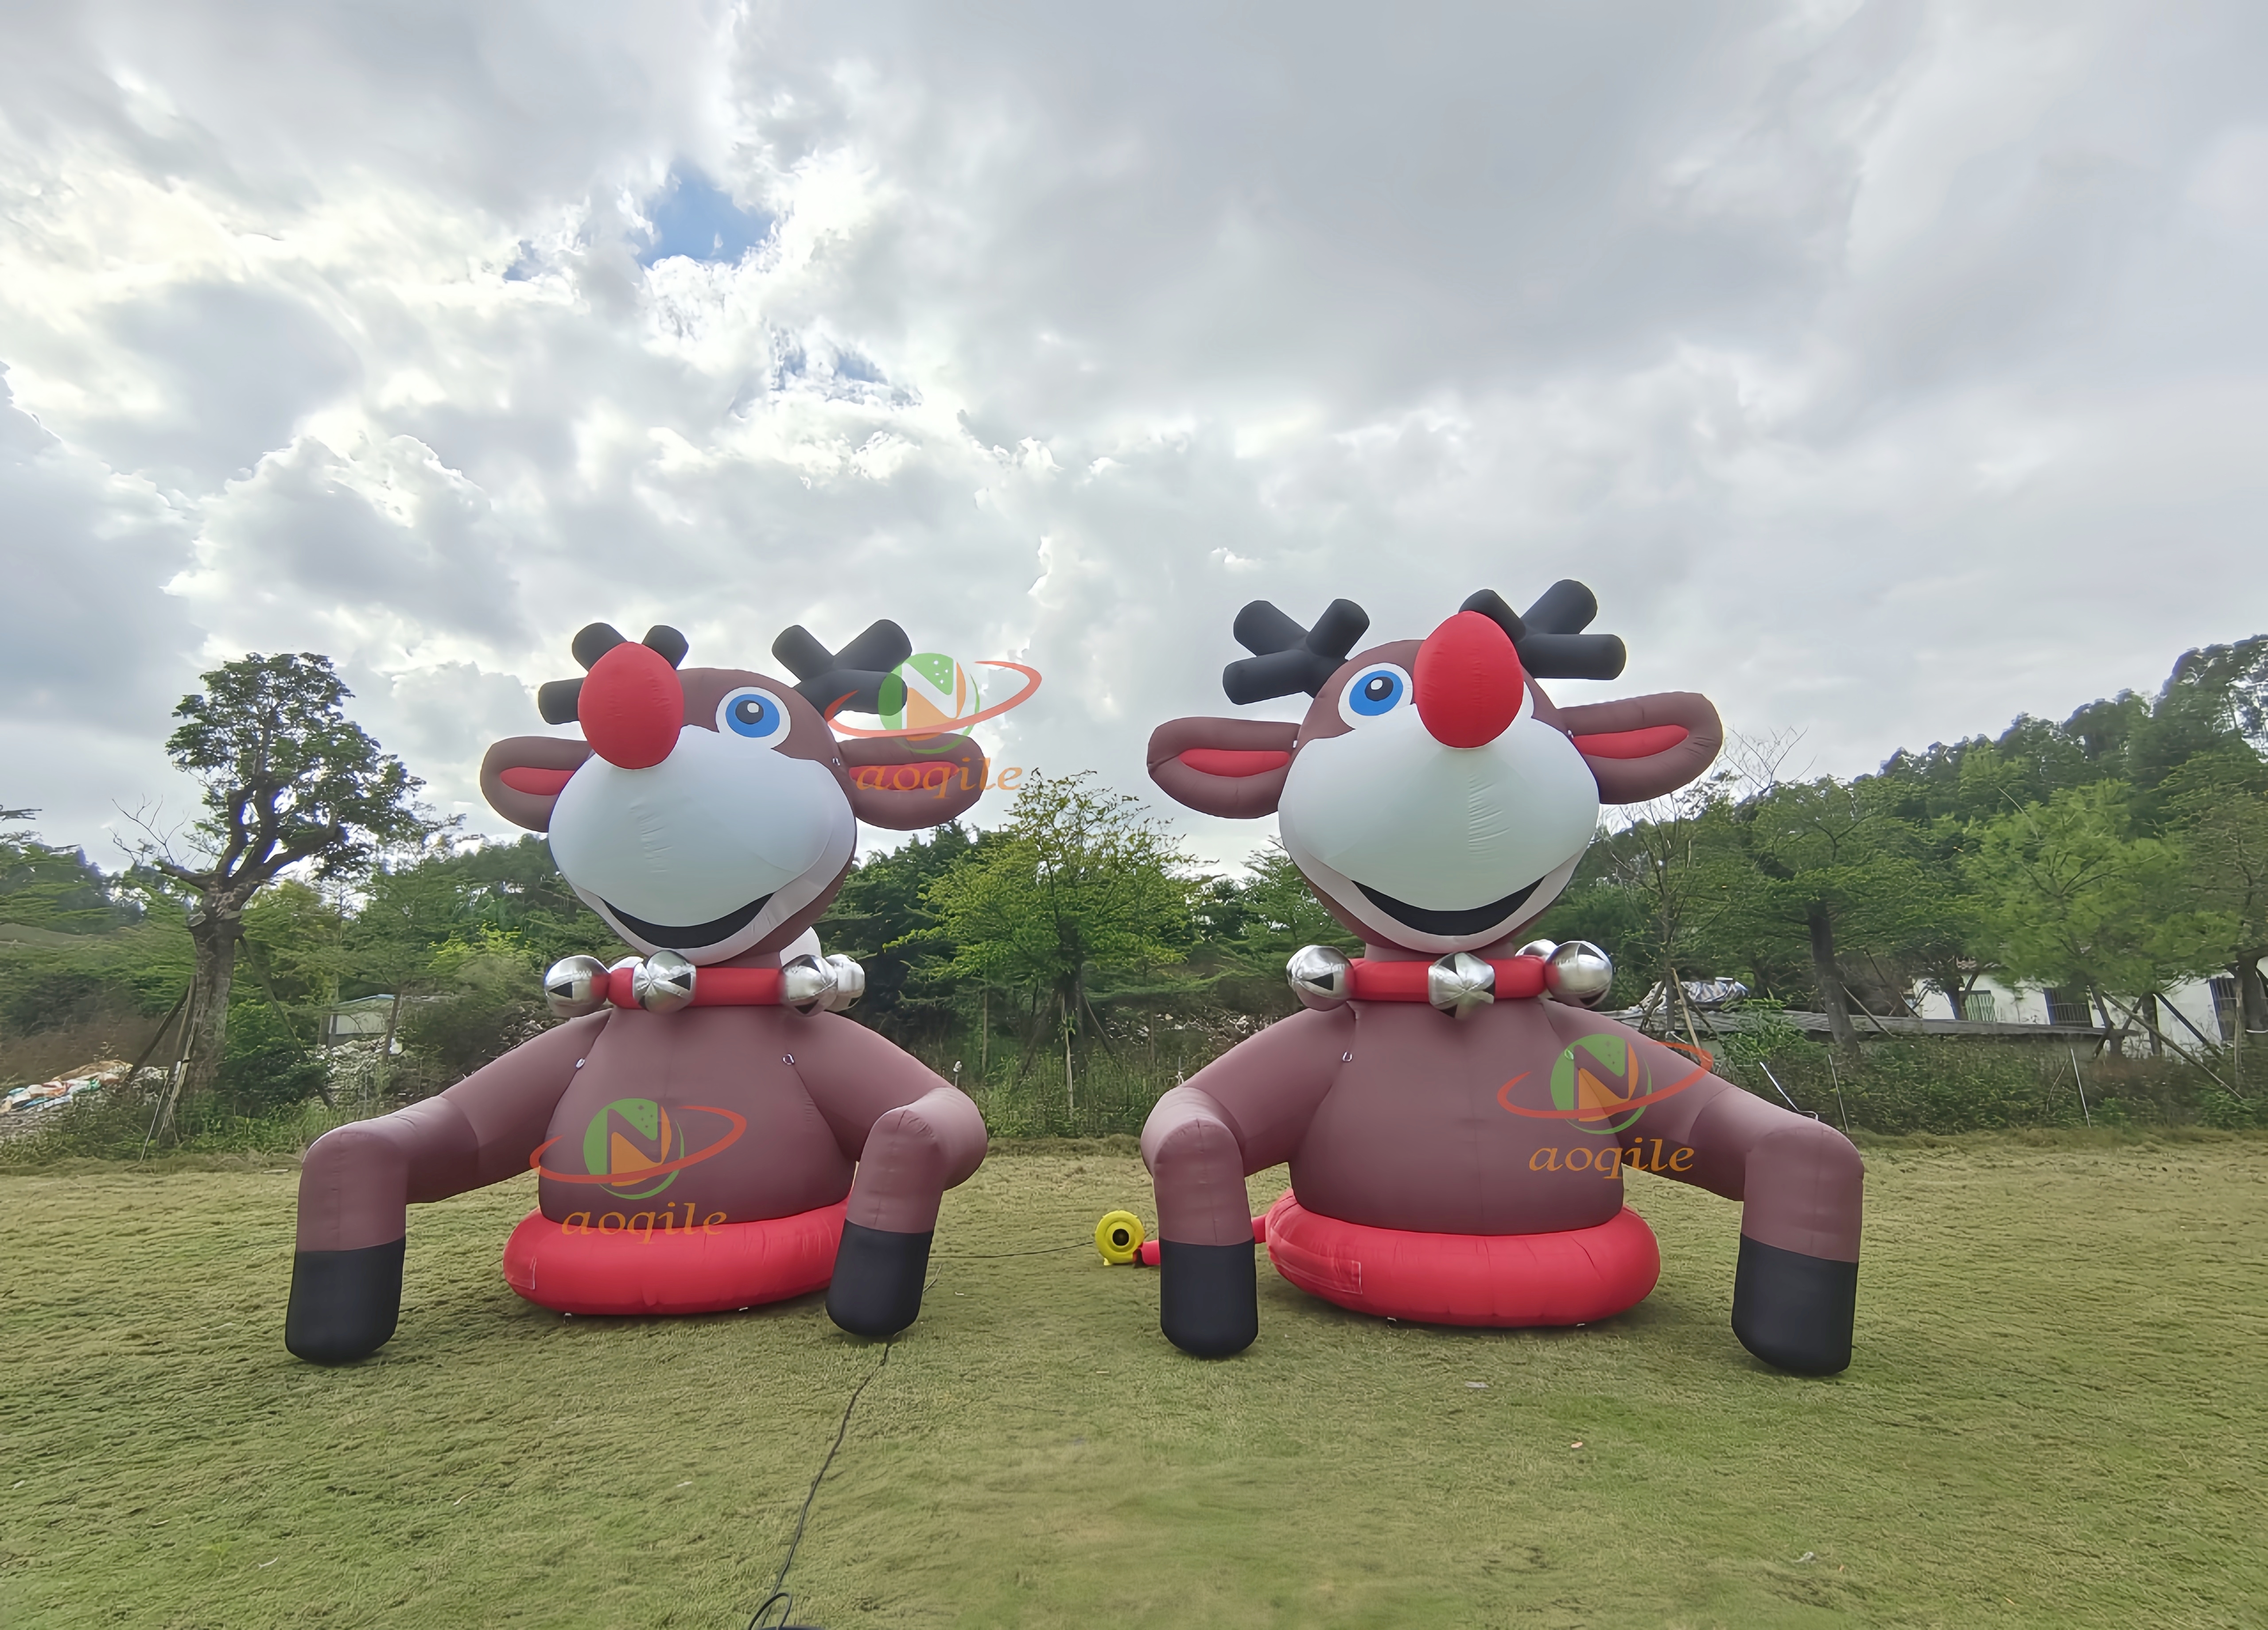
[[[531,1211],[503,1247],[503,1283],[553,1313],[728,1313],[823,1290],[844,1206],[674,1233],[572,1233]]]

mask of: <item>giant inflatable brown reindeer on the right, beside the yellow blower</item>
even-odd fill
[[[1150,775],[1216,816],[1275,814],[1284,848],[1363,954],[1293,957],[1309,1011],[1177,1086],[1143,1129],[1157,1183],[1159,1315],[1184,1351],[1259,1333],[1254,1249],[1343,1308],[1433,1324],[1581,1324],[1653,1290],[1631,1168],[1742,1202],[1733,1331],[1805,1374],[1851,1362],[1857,1149],[1585,1011],[1613,977],[1583,943],[1515,948],[1567,884],[1601,803],[1701,775],[1721,744],[1701,696],[1558,707],[1540,678],[1615,678],[1622,642],[1558,583],[1515,614],[1495,592],[1427,639],[1347,655],[1370,619],[1313,630],[1266,601],[1232,703],[1306,691],[1306,719],[1175,719]],[[1245,1174],[1290,1192],[1245,1215]]]

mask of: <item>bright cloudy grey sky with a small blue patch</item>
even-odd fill
[[[1631,669],[1563,698],[1837,773],[2268,630],[2257,0],[0,27],[0,803],[100,857],[245,651],[497,830],[592,619],[894,617],[1129,791],[1256,596],[1579,576]]]

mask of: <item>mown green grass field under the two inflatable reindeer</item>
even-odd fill
[[[819,1489],[796,1616],[2268,1623],[2263,1154],[1878,1147],[1857,1362],[1796,1381],[1733,1342],[1737,1208],[1685,1188],[1631,1183],[1665,1270],[1622,1319],[1379,1324],[1263,1270],[1259,1344],[1202,1365],[1154,1274],[971,1260],[1150,1215],[1129,1149],[1002,1147]],[[313,1369],[279,1342],[293,1186],[0,1177],[0,1623],[746,1623],[880,1344],[819,1299],[531,1308],[515,1181],[413,1211],[395,1342]]]

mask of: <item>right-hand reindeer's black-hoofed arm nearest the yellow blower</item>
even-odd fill
[[[1288,1161],[1354,1047],[1354,1013],[1293,1013],[1241,1041],[1150,1111],[1141,1158],[1157,1188],[1159,1326],[1198,1358],[1259,1335],[1245,1174]]]

